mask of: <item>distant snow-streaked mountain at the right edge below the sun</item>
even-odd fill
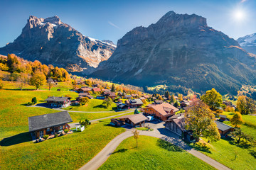
[[[238,38],[237,41],[247,52],[256,55],[256,33],[245,35],[242,38]]]

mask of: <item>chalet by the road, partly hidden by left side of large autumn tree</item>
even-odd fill
[[[176,133],[179,136],[183,136],[183,140],[191,142],[193,140],[193,132],[185,129],[185,118],[183,114],[174,115],[166,122],[166,129]]]

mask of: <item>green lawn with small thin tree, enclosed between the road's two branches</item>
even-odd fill
[[[155,137],[124,140],[100,169],[214,169],[184,150]]]

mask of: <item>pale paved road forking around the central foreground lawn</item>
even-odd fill
[[[186,150],[188,153],[193,154],[193,156],[203,160],[203,162],[210,164],[216,169],[229,169],[227,166],[224,166],[223,164],[216,162],[214,159],[207,157],[205,154],[202,154],[201,152],[198,152],[195,149],[188,147],[188,145],[186,145],[185,142],[179,139],[178,135],[174,134],[169,130],[166,130],[166,128],[164,128],[163,126],[163,123],[153,123],[150,124],[150,126],[151,128],[154,127],[153,131],[139,131],[139,134],[151,137],[158,137],[162,140],[166,140],[167,142],[171,142],[174,145],[177,145],[178,147],[181,147],[182,149]],[[118,135],[117,137],[114,137],[114,139],[110,141],[110,143],[108,143],[100,153],[98,153],[94,158],[92,158],[90,162],[87,162],[87,164],[82,166],[80,170],[98,169],[110,157],[110,155],[114,152],[118,145],[128,137],[132,137],[132,129],[129,129],[126,132],[123,132],[122,134]]]

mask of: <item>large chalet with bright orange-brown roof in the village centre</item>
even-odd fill
[[[151,105],[141,109],[146,115],[153,115],[154,118],[161,119],[163,121],[175,115],[178,108],[171,106],[169,103],[162,103],[159,105]]]

